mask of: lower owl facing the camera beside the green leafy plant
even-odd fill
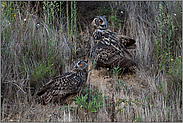
[[[61,103],[79,93],[82,85],[85,84],[88,76],[88,65],[85,61],[71,62],[71,72],[55,77],[46,83],[37,93],[38,103],[43,105],[51,101],[60,101]]]

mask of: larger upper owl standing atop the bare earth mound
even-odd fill
[[[118,35],[107,28],[107,19],[96,16],[91,23],[95,46],[91,50],[91,58],[97,67],[129,68],[136,63],[127,49],[136,48],[135,40]]]

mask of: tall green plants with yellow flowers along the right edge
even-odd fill
[[[164,6],[159,4],[159,13],[156,20],[159,31],[155,38],[156,53],[154,57],[158,72],[165,72],[170,77],[170,84],[175,82],[178,88],[182,89],[182,40],[176,34],[181,30],[179,25],[174,23],[174,19],[179,20],[179,18],[182,18],[182,14],[171,13],[169,9],[165,13],[164,9]],[[177,44],[176,48],[174,47],[175,44]]]

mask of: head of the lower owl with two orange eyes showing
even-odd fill
[[[72,61],[71,62],[71,71],[78,71],[78,70],[86,70],[88,71],[88,64],[86,61]]]

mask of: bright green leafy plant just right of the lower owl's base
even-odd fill
[[[103,104],[103,99],[106,96],[102,96],[98,90],[92,91],[88,88],[84,89],[85,94],[76,96],[74,102],[86,113],[86,112],[97,112],[97,110],[107,104]]]

